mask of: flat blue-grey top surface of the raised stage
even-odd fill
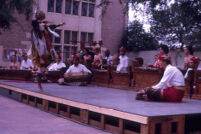
[[[36,83],[0,80],[0,83],[40,92]],[[60,86],[55,83],[42,85],[42,94],[72,101],[115,109],[142,116],[187,115],[201,113],[201,100],[183,99],[182,103],[144,102],[135,100],[136,92],[98,86]]]

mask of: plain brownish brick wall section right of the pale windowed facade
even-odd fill
[[[102,40],[103,46],[117,54],[120,47],[123,33],[128,25],[128,14],[124,13],[124,4],[119,0],[111,0],[102,18]]]

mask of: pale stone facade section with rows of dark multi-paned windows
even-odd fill
[[[101,40],[101,8],[96,8],[100,0],[39,0],[37,8],[46,14],[50,23],[66,25],[55,31],[60,38],[52,38],[56,51],[63,58],[69,58],[80,49],[80,43],[89,46]]]

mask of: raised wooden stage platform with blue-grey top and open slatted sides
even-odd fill
[[[0,80],[0,94],[120,134],[201,133],[201,101],[135,100],[136,92],[98,86],[73,87]]]

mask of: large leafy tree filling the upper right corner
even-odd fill
[[[128,0],[135,9],[139,3],[148,6],[152,15],[151,32],[169,44],[201,44],[200,0]]]

